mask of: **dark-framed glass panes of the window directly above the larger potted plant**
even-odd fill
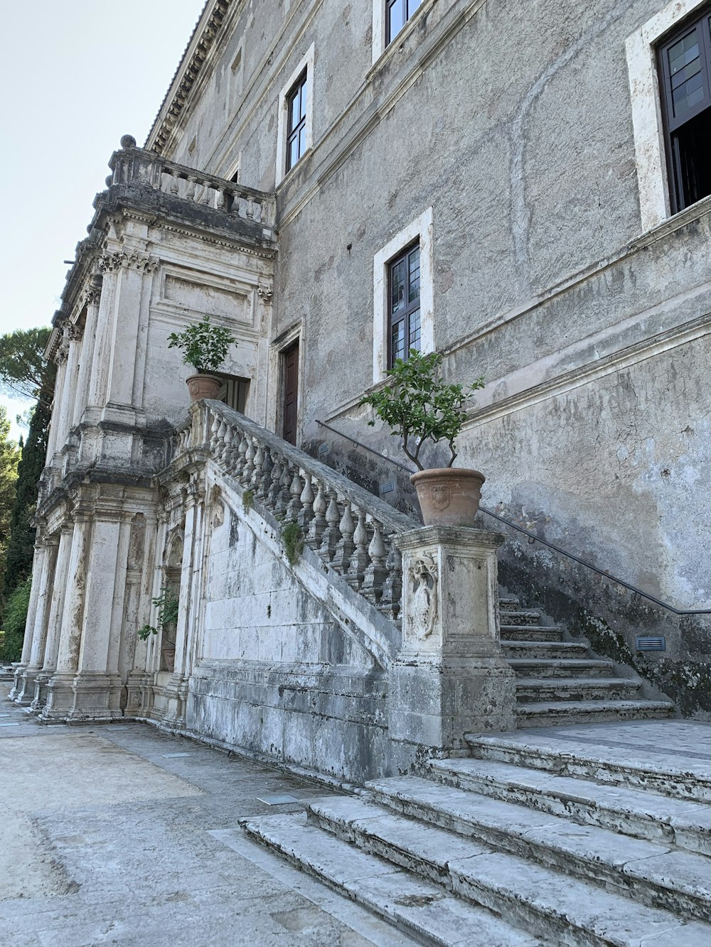
[[[388,266],[388,366],[407,362],[410,348],[420,350],[420,244],[410,246]]]

